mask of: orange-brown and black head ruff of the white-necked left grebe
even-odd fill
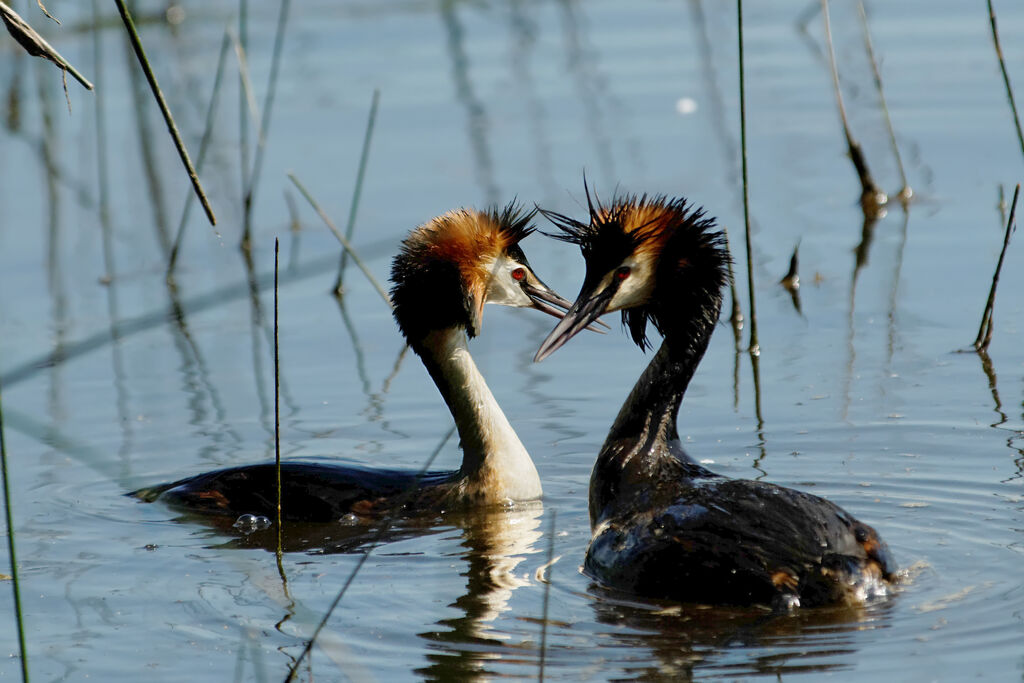
[[[485,212],[457,209],[413,230],[391,267],[394,317],[407,339],[453,327],[476,336],[490,267],[502,255],[521,255],[517,245],[534,231],[534,214],[515,202]]]

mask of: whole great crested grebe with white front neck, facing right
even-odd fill
[[[480,331],[485,303],[532,307],[556,317],[569,306],[534,273],[519,248],[535,229],[534,214],[514,202],[500,211],[450,211],[413,230],[392,264],[395,322],[455,418],[462,467],[429,472],[418,480],[410,471],[285,462],[284,518],[374,517],[393,510],[397,501],[402,512],[416,513],[540,498],[534,461],[467,348],[467,337]],[[272,517],[276,473],[272,463],[244,465],[129,496],[189,511]]]

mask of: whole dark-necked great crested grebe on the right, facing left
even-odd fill
[[[614,310],[641,349],[648,321],[664,337],[594,465],[587,573],[648,597],[776,609],[885,594],[895,565],[873,528],[822,498],[715,474],[680,445],[679,405],[729,276],[714,219],[684,199],[587,199],[588,223],[544,212],[587,273],[535,360]]]

